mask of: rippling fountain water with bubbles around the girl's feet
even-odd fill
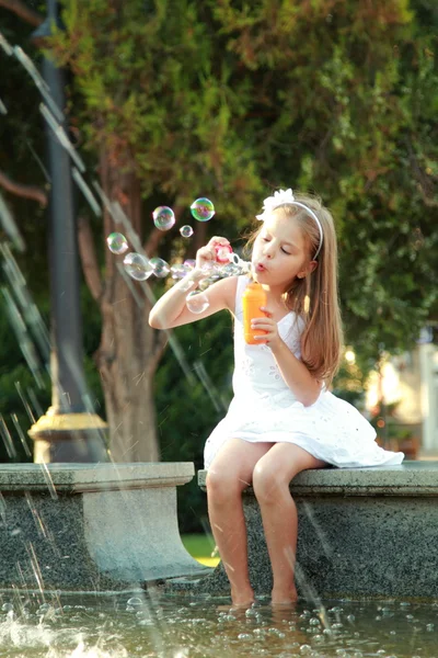
[[[44,602],[43,602],[44,601]],[[300,602],[118,594],[2,595],[0,657],[8,658],[438,658],[438,603]]]

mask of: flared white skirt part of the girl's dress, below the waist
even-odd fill
[[[403,453],[380,447],[368,420],[328,392],[321,393],[310,407],[291,400],[289,389],[234,397],[227,416],[207,439],[205,468],[229,439],[293,443],[318,460],[344,468],[394,466],[404,460]]]

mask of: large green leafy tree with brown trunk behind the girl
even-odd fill
[[[413,344],[437,295],[431,4],[66,0],[62,18],[47,47],[73,73],[70,122],[150,256],[184,249],[149,219],[161,203],[185,223],[210,196],[235,239],[270,189],[314,190],[337,222],[348,342],[367,367]],[[196,226],[193,249],[217,227]],[[99,247],[114,228],[82,212],[97,367],[116,458],[150,458],[163,344]]]

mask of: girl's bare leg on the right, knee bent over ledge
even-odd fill
[[[291,443],[276,443],[254,468],[253,487],[261,507],[263,527],[273,568],[273,605],[297,600],[295,560],[298,514],[290,496],[290,480],[301,470],[323,468],[306,450]]]

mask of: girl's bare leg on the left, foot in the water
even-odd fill
[[[242,491],[252,483],[254,465],[272,445],[230,439],[215,457],[207,474],[208,515],[231,585],[234,605],[254,601],[247,568]]]

